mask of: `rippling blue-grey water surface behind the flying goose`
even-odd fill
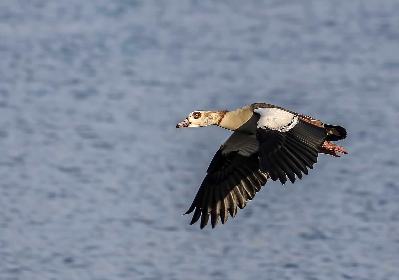
[[[189,225],[230,131],[266,102],[349,152]],[[0,1],[0,279],[399,279],[399,2]]]

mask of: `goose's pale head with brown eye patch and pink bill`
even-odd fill
[[[176,127],[218,125],[225,114],[226,111],[194,111],[184,121],[178,123]]]

